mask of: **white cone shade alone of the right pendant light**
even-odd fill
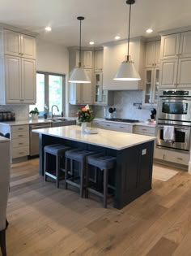
[[[141,80],[141,77],[139,76],[138,72],[136,71],[134,67],[133,62],[123,62],[121,63],[116,76],[113,78],[113,80]]]

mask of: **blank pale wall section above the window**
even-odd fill
[[[36,70],[68,74],[69,54],[64,46],[36,40]]]

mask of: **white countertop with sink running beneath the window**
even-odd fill
[[[54,119],[67,119],[68,121],[70,120],[76,120],[75,117],[55,117]],[[6,124],[6,125],[10,125],[10,126],[14,126],[14,125],[23,125],[23,124],[47,124],[47,123],[52,123],[53,121],[51,119],[37,119],[37,120],[32,120],[32,119],[28,119],[28,120],[18,120],[18,121],[6,121],[6,122],[0,122],[0,124]]]

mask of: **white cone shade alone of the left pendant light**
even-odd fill
[[[82,67],[75,67],[70,73],[70,83],[89,84],[91,80]]]

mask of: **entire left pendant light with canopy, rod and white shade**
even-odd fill
[[[80,25],[79,25],[79,66],[75,67],[71,72],[70,72],[70,83],[81,83],[81,84],[86,84],[86,83],[91,83],[90,78],[87,76],[87,73],[81,66],[81,27],[82,27],[82,20],[84,20],[84,17],[79,16],[77,17],[77,20],[79,20]]]

